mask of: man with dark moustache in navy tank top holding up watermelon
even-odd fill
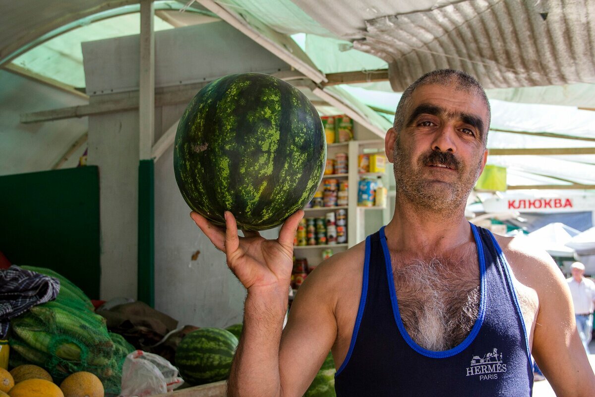
[[[230,212],[225,230],[191,214],[248,289],[229,395],[302,396],[331,350],[339,397],[528,396],[531,349],[559,396],[593,395],[555,263],[465,219],[489,124],[465,73],[434,71],[405,90],[385,138],[392,220],[308,276],[283,330],[303,211],[277,240],[239,238]]]

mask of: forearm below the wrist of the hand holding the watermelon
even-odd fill
[[[248,290],[228,396],[281,396],[279,344],[286,308],[287,289]]]

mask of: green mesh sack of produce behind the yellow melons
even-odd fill
[[[101,379],[107,395],[117,395],[122,362],[133,346],[108,332],[105,318],[93,312],[89,298],[65,277],[46,268],[23,268],[56,277],[60,292],[55,301],[36,305],[11,320],[11,367],[39,365],[57,383],[71,373],[87,371]]]

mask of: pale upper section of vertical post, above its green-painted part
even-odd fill
[[[155,30],[153,0],[140,1],[139,156],[151,158],[155,139]]]

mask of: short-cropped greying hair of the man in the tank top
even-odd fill
[[[455,69],[433,70],[424,74],[424,76],[419,77],[419,79],[415,80],[414,83],[412,83],[405,91],[403,91],[403,95],[399,100],[399,105],[397,105],[397,110],[394,112],[393,127],[396,132],[400,133],[405,126],[406,111],[411,105],[411,96],[413,95],[415,89],[419,86],[430,84],[436,84],[440,86],[455,86],[458,90],[474,92],[479,95],[481,99],[483,99],[483,102],[487,108],[486,131],[482,131],[485,144],[487,142],[487,133],[490,130],[490,102],[487,99],[486,92],[484,91],[481,84],[475,79],[475,77],[465,73],[464,71]]]

